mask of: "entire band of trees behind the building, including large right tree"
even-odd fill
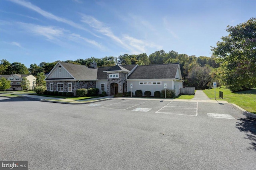
[[[138,64],[169,64],[180,63],[184,85],[196,89],[212,88],[213,82],[217,86],[225,85],[232,91],[248,90],[256,87],[256,18],[228,26],[229,35],[221,37],[216,47],[212,47],[212,56],[199,56],[179,54],[176,51],[156,51],[149,56],[146,53],[139,55],[124,54],[119,57],[91,57],[75,61],[62,61],[66,63],[90,66],[93,61],[98,67]],[[2,59],[0,74],[32,74],[36,77],[46,74],[58,63],[42,62],[39,65],[31,64],[30,68],[22,63],[9,63]]]

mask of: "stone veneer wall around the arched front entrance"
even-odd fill
[[[118,84],[118,93],[122,93],[123,92],[123,84],[125,83],[125,88],[124,88],[124,92],[127,91],[127,80],[126,80],[126,73],[124,72],[119,72],[119,78],[109,78],[109,74],[107,74],[107,95],[110,96],[110,84],[111,83],[117,83]]]

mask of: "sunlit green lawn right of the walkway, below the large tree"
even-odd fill
[[[219,99],[219,91],[223,92],[223,99]],[[204,90],[204,93],[214,100],[214,88]],[[216,100],[226,100],[229,103],[234,103],[246,111],[256,114],[256,89],[246,90],[242,92],[231,92],[226,87],[216,88]]]

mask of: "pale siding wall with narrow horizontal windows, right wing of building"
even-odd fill
[[[132,92],[135,94],[136,90],[142,90],[144,96],[145,91],[150,91],[151,96],[154,96],[155,91],[164,89],[164,83],[167,83],[167,88],[172,89],[172,80],[127,80],[127,91],[130,92],[130,84],[132,83]],[[143,84],[141,84],[143,83]],[[153,84],[156,83],[156,84]],[[160,84],[157,84],[160,83]]]

